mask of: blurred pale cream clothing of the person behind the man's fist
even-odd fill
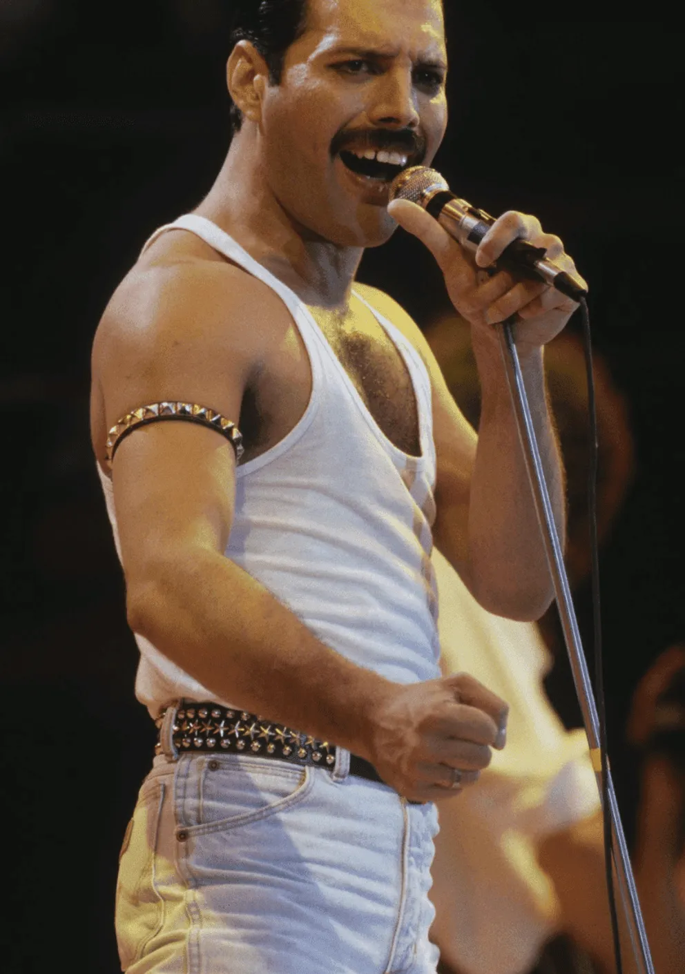
[[[486,673],[496,693],[508,694],[510,730],[507,759],[493,760],[459,802],[438,805],[433,936],[446,971],[521,974],[572,925],[538,861],[544,843],[563,834],[569,853],[578,854],[575,827],[590,823],[583,839],[596,843],[602,880],[594,772],[585,731],[564,731],[545,695],[550,655],[538,627],[483,612],[439,552],[434,565],[443,673]],[[593,891],[589,877],[586,902]]]

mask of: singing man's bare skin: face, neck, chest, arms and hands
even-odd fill
[[[355,286],[414,344],[431,376],[436,542],[484,606],[538,618],[552,592],[486,318],[521,318],[519,349],[563,532],[542,344],[573,307],[503,274],[479,285],[435,221],[429,226],[410,205],[390,212],[387,186],[343,162],[345,149],[394,146],[410,150],[410,164],[429,165],[446,126],[445,74],[438,0],[311,0],[279,85],[249,43],[232,52],[228,87],[243,124],[196,211],[308,304],[381,428],[408,453],[418,447],[413,390],[397,350],[351,291],[363,248],[383,244],[398,223],[433,250],[455,307],[474,326],[483,387],[477,444],[416,324],[387,295]],[[516,236],[551,246],[573,269],[560,242],[521,214],[495,224],[478,259],[489,263]],[[107,429],[140,404],[183,399],[240,417],[254,457],[295,426],[311,393],[309,360],[281,300],[185,231],[159,238],[115,292],[93,372],[101,464]],[[112,479],[133,630],[218,698],[349,748],[414,801],[444,797],[453,768],[463,783],[476,780],[490,749],[504,746],[507,705],[474,678],[399,686],[362,669],[224,557],[235,461],[214,431],[182,423],[136,431],[122,442]]]

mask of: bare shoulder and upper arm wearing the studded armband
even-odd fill
[[[237,425],[258,357],[250,310],[245,276],[222,264],[153,268],[125,281],[95,337],[98,460],[102,430],[148,403],[199,403]],[[112,482],[130,590],[184,544],[225,548],[235,459],[218,432],[181,421],[140,428],[121,442]]]

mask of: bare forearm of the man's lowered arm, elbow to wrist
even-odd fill
[[[392,684],[223,555],[194,547],[155,566],[130,588],[129,621],[217,699],[368,757],[368,716]]]

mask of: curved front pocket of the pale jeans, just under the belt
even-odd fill
[[[299,805],[313,783],[311,768],[285,762],[243,755],[193,757],[179,816],[183,831],[200,835],[261,821]]]

